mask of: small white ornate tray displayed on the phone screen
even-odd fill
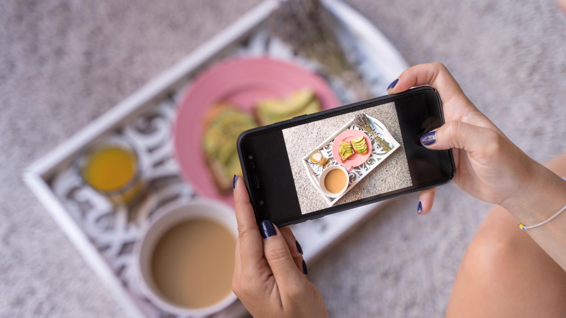
[[[359,165],[353,167],[353,169],[348,173],[348,188],[346,191],[337,197],[329,197],[325,195],[322,190],[320,189],[320,174],[324,170],[322,166],[319,165],[312,165],[308,163],[308,157],[312,153],[309,152],[303,157],[303,165],[305,165],[305,169],[308,174],[308,178],[312,182],[312,185],[318,190],[320,195],[324,197],[324,200],[328,203],[329,207],[332,207],[342,196],[344,196],[348,191],[350,191],[358,182],[362,181],[366,175],[370,174],[372,170],[374,170],[381,162],[385,160],[385,158],[389,157],[393,152],[395,152],[401,145],[397,143],[397,140],[393,138],[393,136],[387,130],[387,127],[384,126],[383,123],[378,121],[371,116],[366,115],[366,118],[370,122],[372,128],[374,129],[375,133],[381,137],[381,139],[385,140],[390,146],[392,146],[389,152],[385,152],[383,148],[375,141],[374,136],[368,135],[364,130],[355,126],[354,118],[350,119],[344,126],[342,126],[339,130],[337,130],[332,136],[329,136],[326,140],[320,143],[316,149],[319,149],[320,152],[323,154],[324,157],[330,162],[328,166],[338,165],[334,156],[332,155],[332,145],[334,144],[334,139],[341,134],[342,131],[355,129],[364,132],[371,140],[371,154],[367,158],[367,160]]]

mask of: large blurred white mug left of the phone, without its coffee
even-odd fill
[[[161,207],[153,214],[149,225],[141,231],[141,240],[134,247],[134,275],[141,292],[163,311],[179,316],[207,316],[223,310],[233,303],[237,297],[230,291],[224,298],[211,306],[201,308],[180,307],[163,298],[153,282],[151,257],[159,239],[171,227],[187,220],[208,219],[224,225],[234,239],[238,238],[238,225],[234,210],[217,201],[192,200],[174,201]]]

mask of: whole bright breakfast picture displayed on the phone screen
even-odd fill
[[[413,185],[395,102],[282,133],[302,214]]]

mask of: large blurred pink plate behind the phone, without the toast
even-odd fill
[[[216,189],[204,160],[202,123],[208,108],[227,101],[252,112],[256,102],[262,98],[284,97],[306,87],[315,91],[321,109],[340,106],[324,79],[288,62],[269,58],[237,58],[203,71],[181,99],[173,129],[175,156],[183,177],[199,195],[233,205],[231,194],[222,196]]]

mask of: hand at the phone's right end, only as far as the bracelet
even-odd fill
[[[510,205],[528,197],[552,173],[521,151],[466,97],[447,68],[439,62],[408,68],[388,93],[400,93],[430,85],[440,94],[445,124],[425,134],[421,143],[429,149],[451,149],[456,162],[453,181],[479,200]],[[395,83],[395,84],[394,84]],[[542,178],[541,178],[542,177]],[[421,191],[418,212],[432,208],[436,188]]]

